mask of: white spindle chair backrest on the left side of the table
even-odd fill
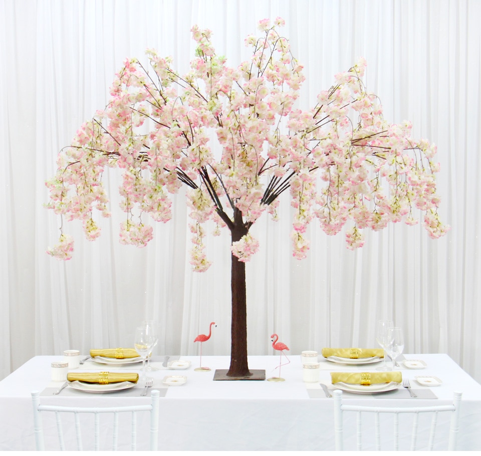
[[[65,413],[73,414],[75,425],[75,438],[77,441],[77,449],[83,450],[83,440],[81,433],[81,419],[80,415],[93,414],[93,431],[90,431],[89,440],[94,440],[94,450],[100,449],[100,415],[111,414],[112,421],[108,426],[112,429],[112,450],[117,449],[118,436],[119,436],[119,414],[129,417],[130,414],[130,433],[131,433],[131,449],[135,450],[137,445],[137,413],[149,412],[150,413],[150,450],[156,450],[158,446],[158,432],[159,432],[159,391],[154,389],[151,391],[151,402],[146,405],[133,405],[133,406],[117,406],[117,407],[63,407],[56,405],[42,405],[40,403],[40,393],[33,391],[32,401],[34,406],[34,432],[35,432],[35,445],[37,450],[43,451],[44,445],[44,432],[42,425],[41,412],[54,412],[57,425],[57,433],[59,436],[60,449],[65,450],[64,431],[62,429],[62,418]],[[91,420],[90,420],[91,421]],[[83,422],[83,421],[82,421]],[[84,434],[86,433],[84,428]],[[87,440],[87,438],[86,438]]]

